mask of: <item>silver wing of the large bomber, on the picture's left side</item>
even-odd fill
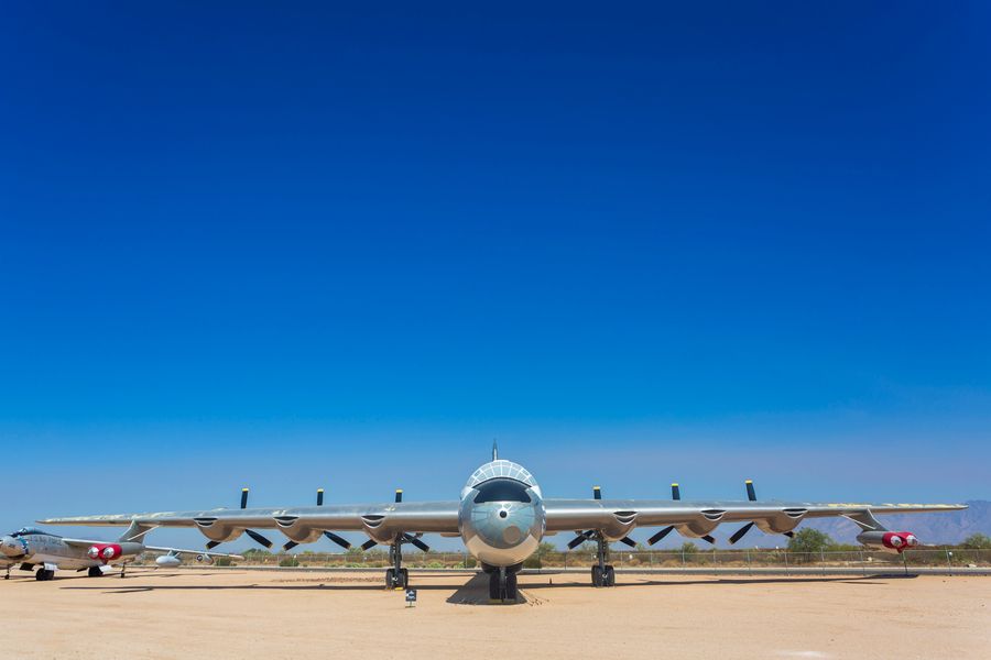
[[[458,532],[457,502],[350,504],[291,508],[209,509],[74,516],[40,520],[44,525],[194,527],[214,541],[229,541],[246,529],[277,529],[307,543],[324,531],[363,531],[379,542],[400,534]]]

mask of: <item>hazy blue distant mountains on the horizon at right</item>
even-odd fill
[[[941,544],[941,543],[959,543],[972,534],[980,532],[991,536],[991,502],[987,499],[971,499],[965,503],[969,508],[962,512],[934,513],[934,514],[902,514],[897,516],[878,516],[878,519],[894,531],[911,531],[916,535],[923,543]],[[840,543],[856,543],[856,537],[859,528],[846,518],[821,518],[818,520],[807,520],[802,524],[799,529],[812,527],[820,531],[825,531],[832,539]],[[739,528],[738,525],[720,525],[712,536],[716,538],[718,548],[732,548],[729,544],[729,537]],[[677,548],[685,542],[686,539],[680,538],[677,534],[669,535],[664,542],[657,548],[671,549]],[[699,547],[707,547],[708,543],[698,539],[687,539]],[[774,548],[775,546],[786,546],[787,537],[765,535],[756,528],[750,530],[737,548]]]

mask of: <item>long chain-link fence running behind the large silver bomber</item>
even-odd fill
[[[991,568],[991,550],[924,549],[902,554],[872,550],[789,552],[784,549],[753,550],[613,550],[610,563],[620,570],[694,570],[759,573],[761,571],[809,573],[883,572],[945,570],[952,573],[968,569]],[[542,549],[530,557],[524,569],[570,570],[586,569],[596,562],[593,550],[568,552]],[[139,563],[154,564],[153,557]],[[300,552],[272,554],[248,552],[243,560],[228,562],[220,559],[215,565],[311,568],[311,569],[384,569],[391,565],[382,550],[370,552]],[[466,552],[404,552],[403,565],[411,569],[472,570],[478,561]]]

